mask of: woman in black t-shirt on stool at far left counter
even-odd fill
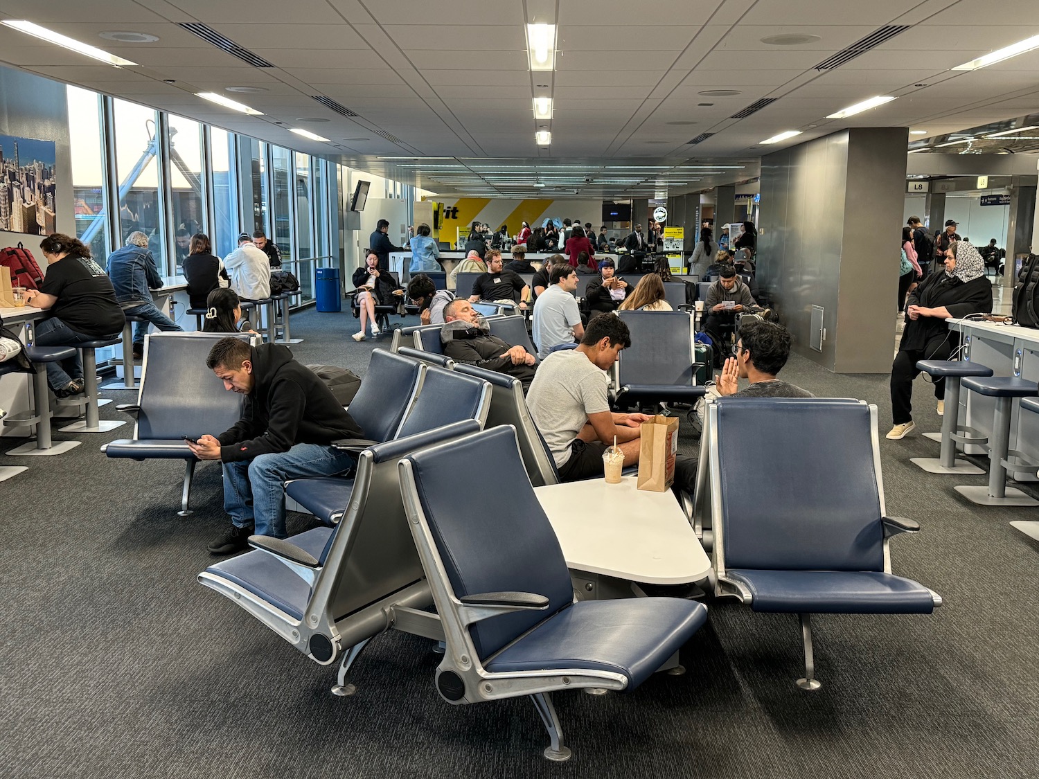
[[[47,274],[39,290],[29,290],[27,300],[51,316],[35,326],[36,346],[76,346],[87,341],[118,338],[126,324],[123,308],[104,269],[90,259],[90,249],[61,233],[39,242],[47,260]],[[47,382],[59,398],[83,392],[83,358],[47,364]]]

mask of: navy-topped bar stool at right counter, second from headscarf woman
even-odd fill
[[[1039,386],[1035,381],[1025,381],[1017,376],[968,376],[963,379],[963,386],[979,395],[995,398],[995,414],[988,447],[988,487],[959,485],[955,487],[956,491],[980,506],[1039,506],[1039,501],[1007,486],[1008,471],[1012,474],[1034,473],[1037,467],[1030,463],[1011,462],[1008,457],[1022,459],[1019,452],[1009,451],[1011,401],[1039,395]]]

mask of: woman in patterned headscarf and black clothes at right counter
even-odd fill
[[[945,250],[945,271],[921,281],[906,298],[905,329],[899,353],[891,366],[891,418],[888,438],[904,438],[916,427],[912,421],[912,382],[922,359],[949,359],[959,346],[959,337],[947,319],[992,311],[992,285],[985,277],[985,261],[966,241],[956,241]],[[938,415],[945,411],[945,381],[934,382]],[[952,413],[956,413],[953,409]]]

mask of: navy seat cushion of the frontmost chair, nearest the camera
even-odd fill
[[[488,671],[589,669],[628,677],[634,690],[689,641],[708,616],[684,598],[583,600],[541,622],[484,663]]]

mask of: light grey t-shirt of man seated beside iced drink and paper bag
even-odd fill
[[[588,414],[610,410],[608,387],[606,372],[577,349],[553,352],[538,366],[527,406],[556,467],[570,458],[570,444]]]

